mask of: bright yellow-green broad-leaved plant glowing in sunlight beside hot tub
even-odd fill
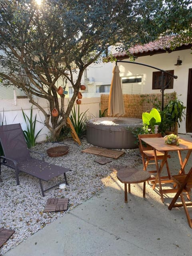
[[[143,123],[151,129],[152,133],[154,133],[154,126],[159,125],[161,123],[161,116],[159,111],[156,108],[152,108],[150,113],[143,112],[142,113]]]

